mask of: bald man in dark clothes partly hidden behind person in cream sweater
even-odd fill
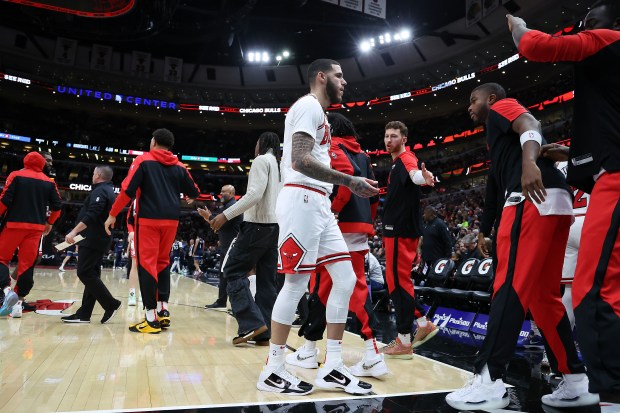
[[[211,219],[215,219],[218,215],[222,214],[225,210],[235,205],[237,202],[235,200],[235,187],[232,185],[224,185],[222,190],[220,191],[220,202],[222,203],[222,208],[214,216],[210,217]],[[230,244],[232,244],[233,240],[237,236],[239,232],[239,226],[243,222],[243,214],[236,216],[230,221],[226,220],[226,222],[221,226],[219,231],[217,231],[217,235],[220,239],[220,284],[219,291],[217,295],[217,300],[213,304],[208,304],[205,306],[207,309],[216,309],[216,308],[226,308],[226,301],[228,300],[228,295],[226,294],[226,278],[223,277],[223,263],[224,257],[230,248]]]

